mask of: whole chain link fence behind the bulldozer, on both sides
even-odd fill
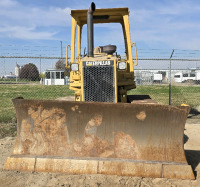
[[[63,67],[63,51],[60,57],[47,55],[45,51],[40,55],[32,51],[27,56],[22,53],[12,53],[11,56],[5,51],[0,54],[0,122],[15,118],[13,98],[57,99],[73,96],[68,85],[69,74]],[[137,88],[128,94],[150,95],[161,104],[169,104],[171,83],[172,105],[184,103],[199,110],[200,51],[175,50],[171,61],[170,53],[167,50],[138,50],[139,64],[134,71]]]

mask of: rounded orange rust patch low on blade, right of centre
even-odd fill
[[[117,158],[137,159],[138,148],[135,140],[128,134],[118,132],[114,138],[115,154]]]

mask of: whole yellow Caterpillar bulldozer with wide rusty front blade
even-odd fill
[[[127,94],[136,88],[137,65],[128,8],[96,9],[92,3],[88,10],[72,10],[71,16],[66,66],[74,100],[13,99],[17,137],[4,170],[194,179],[183,141],[190,107]],[[125,57],[116,53],[115,45],[94,48],[98,23],[121,24]],[[83,25],[88,49],[82,55]]]

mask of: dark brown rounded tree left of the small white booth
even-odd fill
[[[24,65],[19,72],[20,79],[27,79],[30,81],[39,80],[39,71],[35,64],[29,63]]]

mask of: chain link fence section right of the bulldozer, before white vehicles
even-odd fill
[[[142,59],[140,62],[144,66],[155,64],[162,68],[135,68],[137,89],[132,90],[131,94],[147,94],[161,104],[187,104],[200,109],[200,68],[196,66],[200,63],[198,59],[173,59],[171,71],[169,59]]]

